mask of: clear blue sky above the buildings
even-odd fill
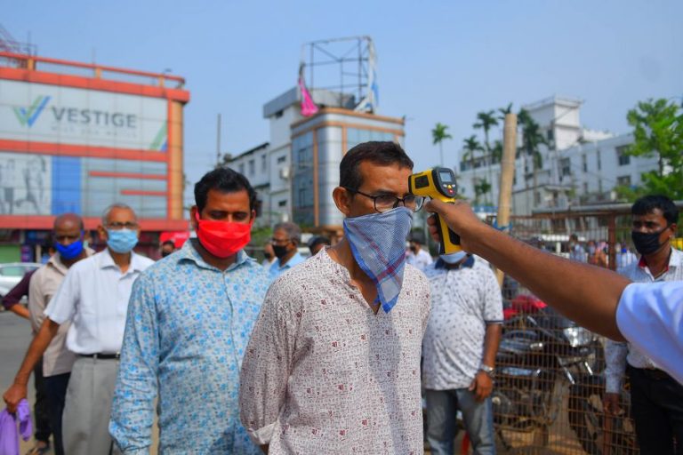
[[[638,100],[683,95],[683,2],[54,2],[0,0],[2,24],[41,55],[187,79],[186,173],[196,181],[222,145],[268,140],[264,102],[296,83],[301,44],[369,35],[379,113],[406,116],[417,168],[438,163],[430,130],[447,124],[454,164],[478,111],[553,94],[584,100],[582,122],[628,132]]]

